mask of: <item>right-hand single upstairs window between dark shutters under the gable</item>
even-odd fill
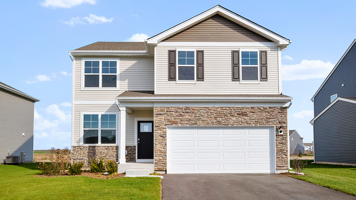
[[[258,81],[257,51],[241,51],[241,80]]]

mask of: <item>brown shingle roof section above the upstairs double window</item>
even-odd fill
[[[145,42],[94,42],[74,50],[146,51]]]

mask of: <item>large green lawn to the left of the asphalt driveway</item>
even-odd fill
[[[0,165],[0,199],[161,199],[161,178],[39,178],[37,163]]]

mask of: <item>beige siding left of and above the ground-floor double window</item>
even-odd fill
[[[80,112],[119,112],[119,109],[116,104],[74,104],[74,145],[80,145]]]

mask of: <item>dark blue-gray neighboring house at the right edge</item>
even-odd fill
[[[356,39],[311,99],[316,163],[356,165]]]

